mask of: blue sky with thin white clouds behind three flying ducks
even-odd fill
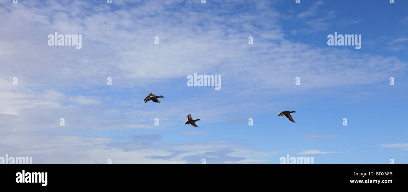
[[[407,7],[0,0],[0,156],[210,164],[280,163],[290,154],[315,164],[408,163]],[[48,46],[55,31],[82,34],[82,49]],[[361,34],[361,49],[328,46],[335,32]],[[221,89],[187,86],[194,73],[221,75]],[[165,98],[144,103],[151,92]],[[277,116],[284,110],[297,111],[296,123]],[[184,126],[188,114],[202,119],[200,128]]]

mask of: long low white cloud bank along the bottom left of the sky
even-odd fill
[[[12,136],[12,137],[10,137]],[[145,138],[137,135],[137,138]],[[149,137],[151,138],[151,137]],[[24,141],[24,142],[21,142]],[[41,142],[39,142],[41,141]],[[198,141],[118,143],[103,137],[74,135],[13,134],[0,136],[0,150],[10,156],[30,156],[33,163],[207,163],[264,162],[273,153],[259,152],[243,143]],[[7,150],[6,150],[7,149]],[[3,155],[4,156],[4,155]]]

